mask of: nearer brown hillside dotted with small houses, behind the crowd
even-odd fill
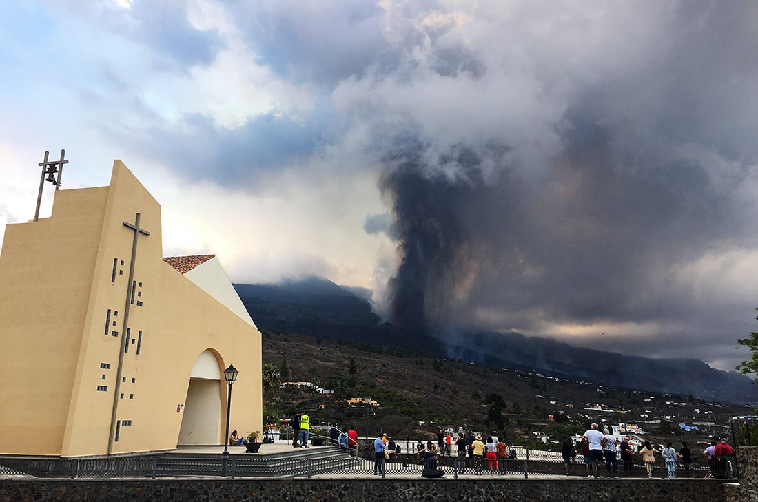
[[[266,414],[290,417],[298,410],[312,410],[314,423],[343,427],[354,423],[360,435],[385,429],[395,438],[406,434],[427,438],[440,427],[462,426],[478,431],[497,429],[510,441],[539,447],[533,432],[560,438],[584,432],[591,421],[606,421],[635,423],[660,441],[672,438],[673,430],[678,440],[695,443],[709,434],[727,435],[730,417],[745,412],[744,407],[609,388],[536,372],[493,370],[309,335],[264,332],[263,362],[277,365],[284,381],[314,382],[334,391],[323,395],[303,388],[283,389]],[[346,398],[371,398],[379,406],[350,408],[340,404]],[[496,418],[493,403],[499,407]],[[613,411],[584,410],[596,404]],[[700,432],[678,430],[678,422],[693,420],[714,425],[701,427]],[[660,422],[647,423],[650,421]]]

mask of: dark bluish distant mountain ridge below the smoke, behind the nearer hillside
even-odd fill
[[[371,312],[365,297],[326,279],[311,277],[235,288],[258,327],[272,333],[378,345],[437,359],[482,363],[492,369],[535,370],[567,379],[706,401],[758,403],[758,390],[747,376],[713,369],[700,360],[622,356],[518,333],[475,332],[462,338],[465,346],[446,345],[431,336],[382,322]]]

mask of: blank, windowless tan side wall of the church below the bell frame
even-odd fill
[[[64,437],[105,189],[56,193],[50,218],[9,224],[0,259],[0,451],[57,454]],[[39,441],[39,438],[45,438]]]

